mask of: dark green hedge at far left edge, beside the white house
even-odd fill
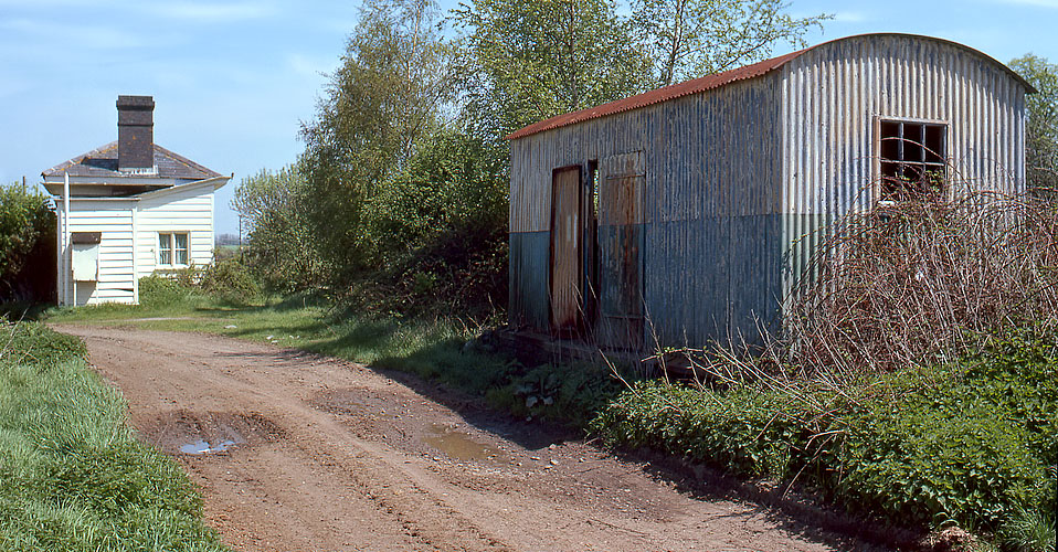
[[[55,214],[47,204],[47,197],[21,184],[0,185],[0,301],[49,299]]]

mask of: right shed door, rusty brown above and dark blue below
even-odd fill
[[[600,344],[643,349],[643,152],[600,164]]]

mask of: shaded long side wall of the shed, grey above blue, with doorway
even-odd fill
[[[755,333],[781,291],[777,95],[754,78],[514,140],[511,323],[548,328],[552,169],[642,151],[644,342]]]

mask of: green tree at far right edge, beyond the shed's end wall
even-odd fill
[[[1025,177],[1031,189],[1058,190],[1058,65],[1025,54],[1011,67],[1038,92],[1026,97]]]

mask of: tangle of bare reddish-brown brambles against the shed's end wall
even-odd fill
[[[954,193],[826,229],[772,357],[808,372],[888,371],[976,353],[1019,325],[1058,328],[1056,204]]]

